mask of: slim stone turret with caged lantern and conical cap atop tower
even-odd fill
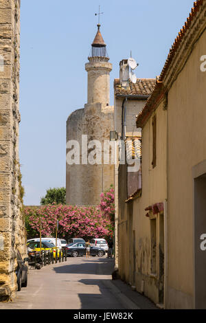
[[[109,105],[112,64],[108,63],[109,58],[106,52],[106,43],[104,43],[100,32],[99,23],[98,32],[91,44],[91,54],[88,59],[89,63],[85,65],[88,73],[87,103]]]

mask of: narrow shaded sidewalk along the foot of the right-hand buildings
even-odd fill
[[[108,267],[112,274],[114,259],[108,259]],[[152,301],[145,296],[142,296],[137,291],[133,291],[131,287],[122,280],[110,280],[109,285],[111,289],[113,289],[115,296],[118,296],[119,300],[121,300],[126,307],[130,307],[131,309],[158,309]]]

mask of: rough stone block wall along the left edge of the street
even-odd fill
[[[19,165],[20,0],[0,0],[0,300],[16,292],[16,250],[26,256]]]

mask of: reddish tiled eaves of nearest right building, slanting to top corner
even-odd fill
[[[192,21],[194,20],[197,12],[201,9],[201,5],[203,5],[205,1],[206,0],[198,0],[194,2],[194,8],[192,8],[192,12],[190,13],[190,16],[187,18],[185,25],[183,25],[183,28],[179,32],[179,35],[176,37],[172,45],[172,48],[170,49],[170,53],[168,54],[168,58],[165,61],[165,65],[161,71],[161,75],[159,76],[159,79],[157,81],[157,84],[155,86],[155,89],[152,95],[150,96],[150,98],[148,98],[148,101],[146,102],[142,111],[139,113],[139,115],[137,115],[137,128],[143,127],[144,124],[146,124],[150,114],[157,107],[158,102],[160,102],[160,100],[162,100],[162,98],[165,96],[166,89],[163,85],[163,80],[167,75],[168,69],[170,68],[170,65],[172,63],[174,55],[176,54],[177,49],[179,49],[179,47],[182,44],[183,38],[187,30],[190,29],[190,26],[192,25]]]

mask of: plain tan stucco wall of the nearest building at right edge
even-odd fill
[[[200,246],[201,234],[205,234],[206,227],[203,223],[202,232],[199,232],[199,236],[194,236],[197,227],[194,222],[196,201],[192,170],[206,160],[206,72],[201,71],[201,57],[206,53],[205,13],[204,1],[196,21],[198,25],[200,19],[203,19],[195,34],[196,43],[192,41],[190,44],[192,53],[168,93],[167,307],[169,308],[191,309],[196,304],[196,297],[198,298],[198,293],[196,297],[194,293],[194,276],[198,270],[194,259],[197,252],[194,243]],[[174,124],[175,131],[172,131]],[[205,252],[202,252],[202,257],[205,257]],[[199,264],[201,267],[203,258]],[[206,267],[203,271],[205,270]],[[201,273],[199,275],[202,276]],[[202,284],[204,283],[202,276]],[[206,300],[204,305],[203,302],[201,304],[202,308],[206,308]]]

